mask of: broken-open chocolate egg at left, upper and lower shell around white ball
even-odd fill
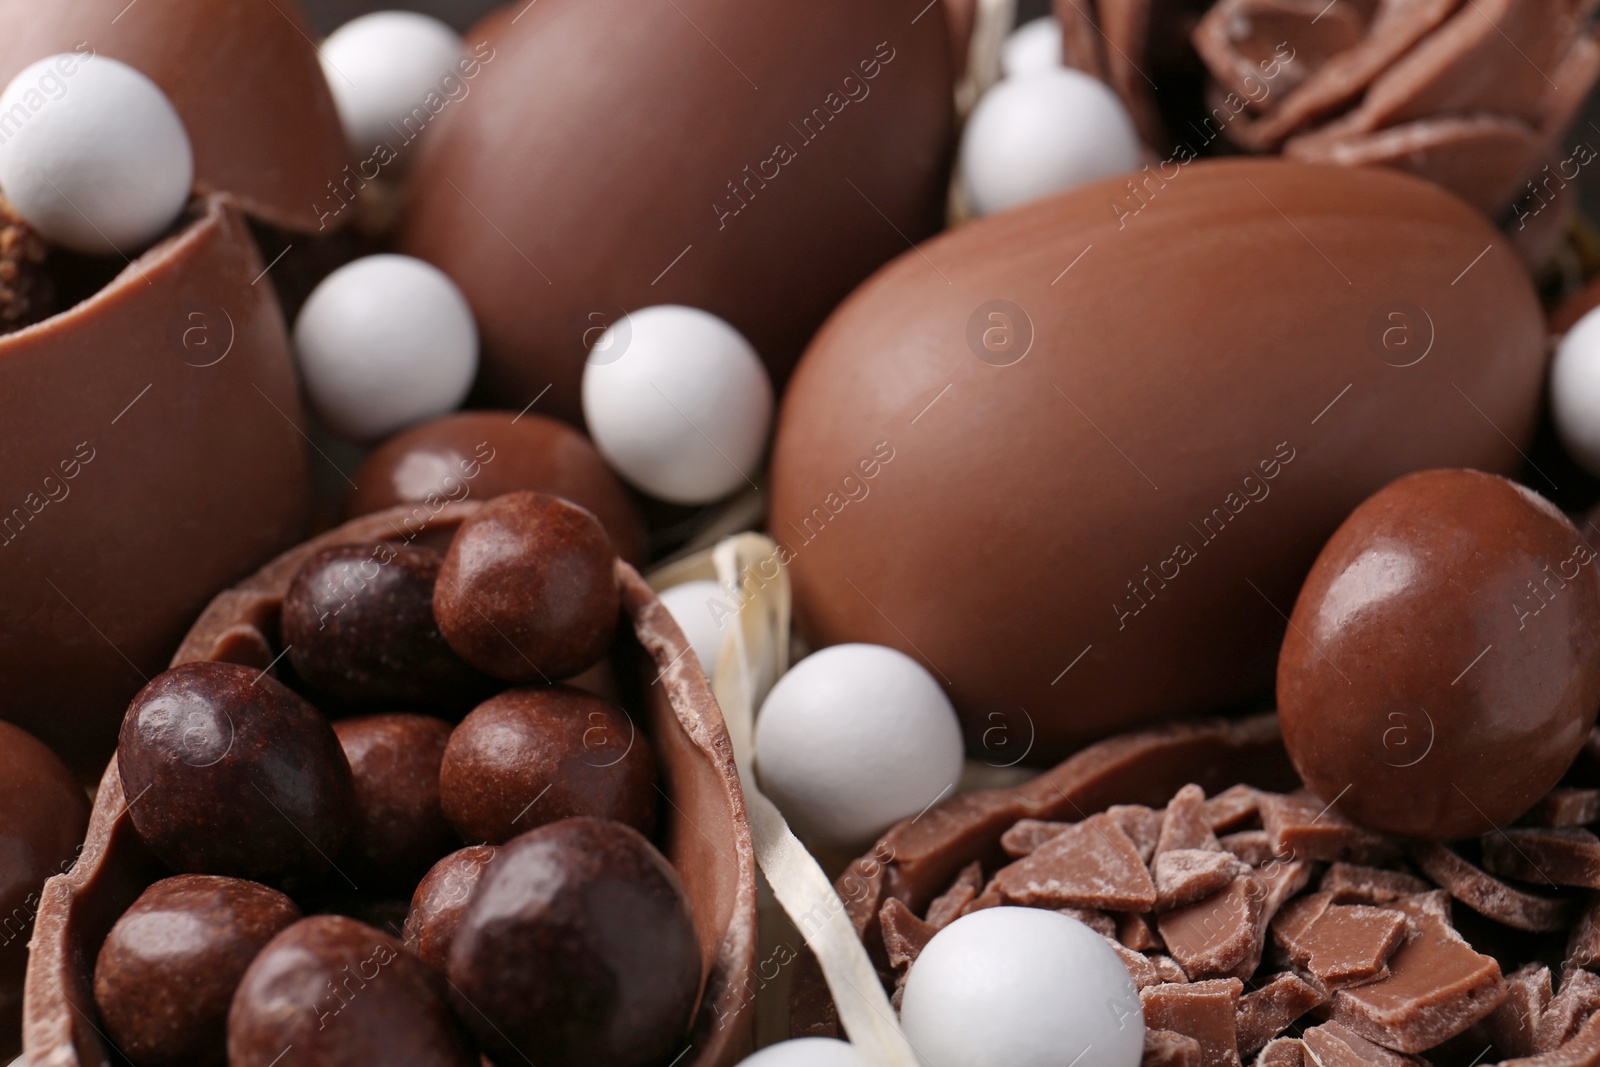
[[[344,144],[293,5],[0,0],[0,82],[91,48],[166,93],[195,158],[197,198],[131,261],[0,218],[0,717],[90,776],[206,598],[304,533],[301,403],[246,216],[315,232]]]

